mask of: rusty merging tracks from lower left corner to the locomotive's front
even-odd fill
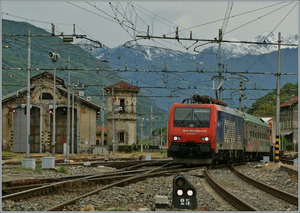
[[[50,196],[58,197],[51,205],[48,205],[48,209],[43,211],[61,211],[65,206],[71,205],[77,200],[92,196],[99,193],[102,190],[108,189],[114,186],[124,187],[125,185],[137,182],[139,180],[147,179],[149,177],[165,176],[167,173],[176,173],[182,171],[193,170],[194,168],[180,168],[180,165],[174,165],[173,162],[161,162],[161,167],[154,169],[143,169],[134,171],[117,171],[110,174],[96,174],[92,176],[86,176],[81,179],[69,180],[63,182],[57,182],[52,184],[45,184],[37,188],[21,191],[19,193],[12,193],[2,196],[2,200],[20,200],[26,199],[31,205],[35,202],[35,196],[45,196],[45,199]],[[143,164],[145,166],[145,163]],[[121,174],[122,173],[122,174]],[[72,199],[68,201],[59,201],[61,197],[71,193]],[[59,202],[58,205],[57,202]],[[49,207],[52,206],[52,207]]]

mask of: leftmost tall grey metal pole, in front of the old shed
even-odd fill
[[[30,30],[27,48],[27,97],[26,97],[26,158],[30,158]]]

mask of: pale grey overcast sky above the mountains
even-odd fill
[[[53,23],[57,35],[73,34],[75,24],[77,35],[110,48],[145,36],[148,25],[149,35],[172,38],[177,26],[179,38],[190,38],[192,31],[193,39],[208,40],[218,37],[219,29],[223,40],[248,41],[263,31],[299,34],[299,1],[1,1],[1,12],[1,19],[29,22],[48,32]],[[178,44],[166,39],[138,42]]]

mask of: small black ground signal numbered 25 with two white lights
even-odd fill
[[[196,189],[182,175],[173,179],[172,208],[196,209]]]

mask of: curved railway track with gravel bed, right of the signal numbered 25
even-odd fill
[[[298,211],[297,196],[245,176],[234,166],[232,165],[230,170],[226,168],[208,172],[206,169],[204,175],[209,184],[239,211],[279,211],[278,209]],[[223,178],[224,173],[226,179]]]

